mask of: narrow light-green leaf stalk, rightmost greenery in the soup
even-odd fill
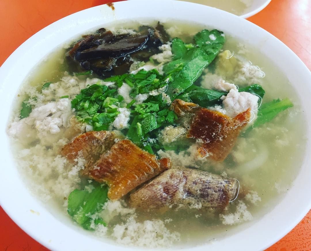
[[[258,127],[274,119],[280,112],[293,107],[293,103],[288,99],[276,99],[262,104],[258,109],[258,118],[255,120],[253,127]]]

